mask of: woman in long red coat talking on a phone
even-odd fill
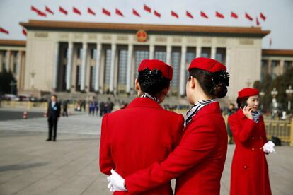
[[[267,195],[270,191],[268,164],[265,153],[274,150],[267,140],[263,117],[258,112],[258,90],[239,91],[239,110],[228,121],[236,148],[231,166],[231,195]]]

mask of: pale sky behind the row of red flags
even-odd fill
[[[153,8],[161,13],[157,18],[153,13],[144,11],[143,6]],[[45,11],[49,6],[54,15],[47,13],[47,17],[40,17],[30,6],[35,6]],[[59,13],[59,6],[68,11],[64,16]],[[72,12],[72,7],[79,8],[82,15]],[[87,13],[90,7],[96,12],[96,16]],[[102,14],[102,8],[111,12],[111,17]],[[115,8],[119,8],[125,17],[115,14]],[[132,14],[132,8],[141,15],[140,18]],[[0,33],[0,39],[25,40],[19,22],[28,20],[66,20],[86,21],[101,23],[152,23],[167,25],[217,25],[217,26],[256,26],[255,17],[260,12],[264,13],[266,20],[260,20],[263,30],[271,30],[270,35],[263,38],[263,48],[269,48],[269,40],[272,39],[272,49],[293,49],[293,0],[0,0],[0,27],[9,30],[9,35]],[[171,16],[171,11],[178,13],[179,18]],[[189,11],[194,18],[188,18],[185,12]],[[204,11],[209,19],[200,17],[200,11]],[[215,11],[224,14],[225,18],[215,17]],[[231,11],[238,14],[239,18],[231,18]],[[253,22],[244,17],[245,13],[253,17]]]

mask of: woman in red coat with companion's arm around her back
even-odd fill
[[[100,171],[115,169],[123,177],[162,161],[178,145],[184,127],[182,114],[164,110],[173,69],[163,61],[144,59],[135,86],[139,98],[125,109],[105,114],[100,136]],[[117,192],[115,194],[128,194]],[[145,194],[173,194],[171,182]]]

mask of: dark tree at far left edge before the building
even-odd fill
[[[14,78],[13,73],[3,69],[0,73],[0,93],[11,93],[12,91],[12,93],[16,94],[16,85],[11,85],[11,82],[16,83],[16,78]]]

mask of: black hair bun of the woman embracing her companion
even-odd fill
[[[217,71],[212,73],[212,94],[217,98],[226,96],[229,86],[230,76],[226,71]]]

